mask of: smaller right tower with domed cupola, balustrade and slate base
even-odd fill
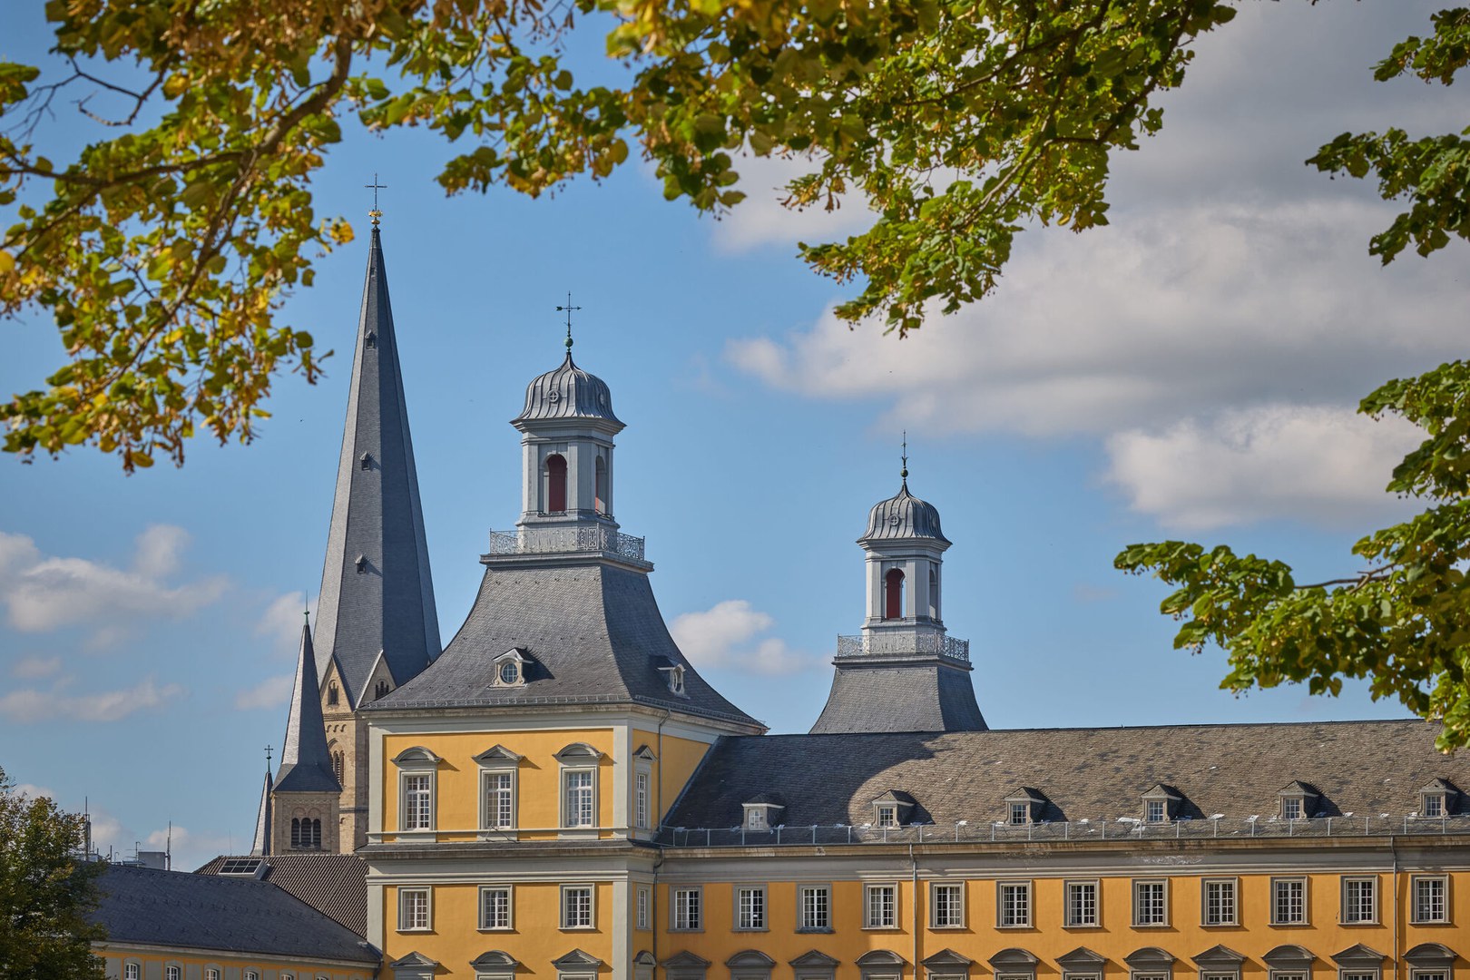
[[[832,692],[813,735],[838,732],[983,732],[970,683],[970,644],[941,617],[939,577],[948,538],[939,511],[903,486],[867,514],[857,544],[866,554],[867,619],[858,636],[838,636]]]

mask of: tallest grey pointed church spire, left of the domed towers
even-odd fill
[[[366,688],[379,654],[397,686],[441,649],[376,225],[368,251],[316,639],[318,679],[335,660],[351,708],[372,699]]]

